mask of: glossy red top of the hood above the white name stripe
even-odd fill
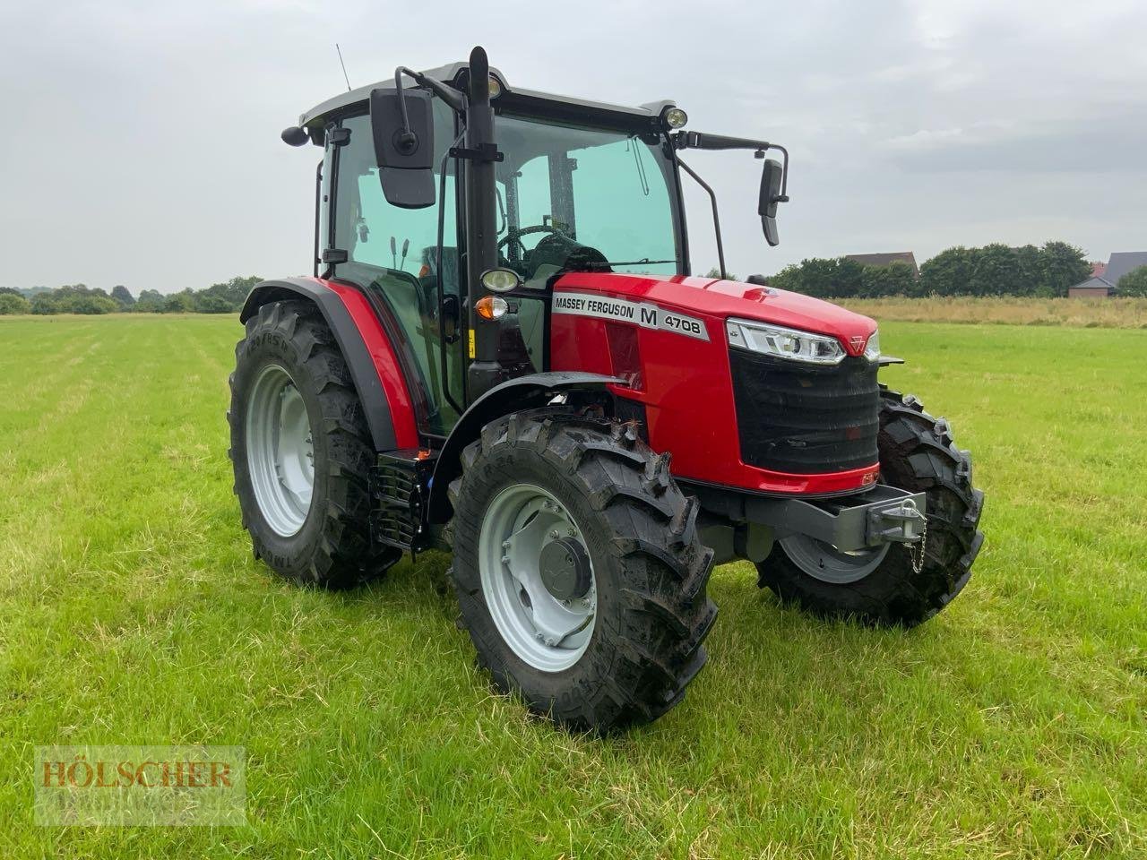
[[[740,316],[830,335],[851,355],[864,352],[876,330],[874,320],[819,298],[712,277],[571,272],[562,275],[554,289],[591,290],[718,320]]]

